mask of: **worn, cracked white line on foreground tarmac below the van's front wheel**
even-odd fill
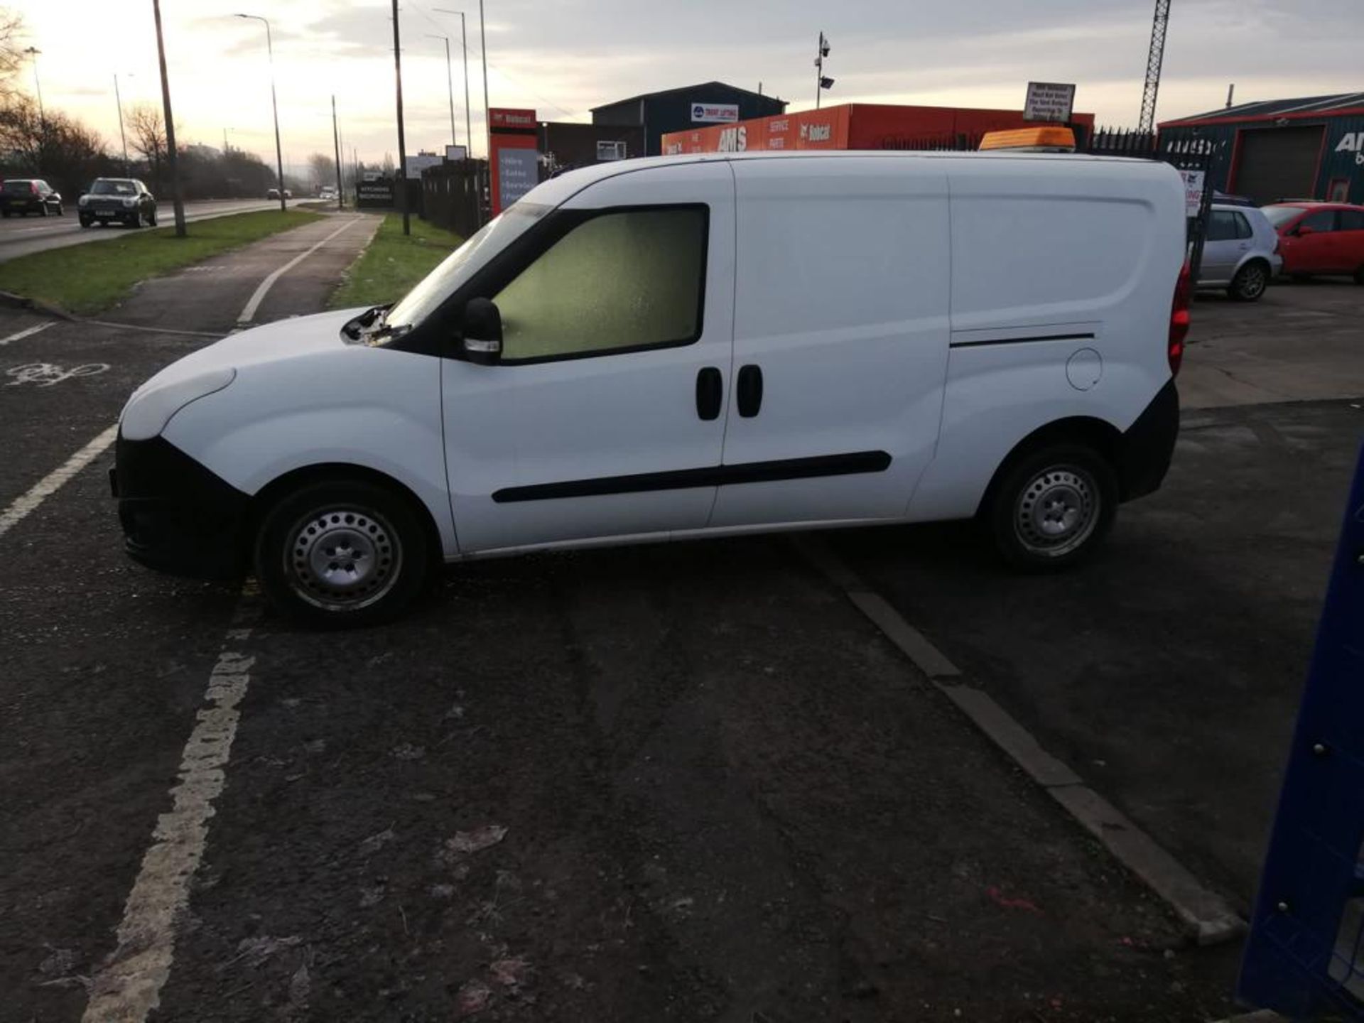
[[[213,801],[222,791],[255,657],[232,649],[251,637],[250,604],[241,604],[209,675],[205,707],[180,756],[172,809],[151,832],[119,923],[119,944],[91,978],[82,1023],[143,1023],[161,1004],[175,962],[175,938],[190,906],[190,885],[203,859]],[[246,626],[246,627],[243,627]]]

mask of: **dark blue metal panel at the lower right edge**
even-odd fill
[[[1341,529],[1237,994],[1364,1020],[1364,450]]]

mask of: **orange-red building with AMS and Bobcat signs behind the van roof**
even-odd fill
[[[1094,130],[1093,113],[1069,121],[1076,136]],[[979,110],[960,106],[891,106],[843,104],[822,110],[753,117],[735,124],[672,131],[663,153],[738,153],[767,149],[922,149],[962,146],[988,131],[1023,128],[1022,110]]]

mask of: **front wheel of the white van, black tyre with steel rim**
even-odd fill
[[[398,615],[421,591],[431,551],[411,501],[366,480],[304,484],[256,535],[261,589],[303,625],[345,629]]]

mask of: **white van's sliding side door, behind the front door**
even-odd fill
[[[937,441],[947,175],[734,161],[734,372],[712,527],[899,518]]]

